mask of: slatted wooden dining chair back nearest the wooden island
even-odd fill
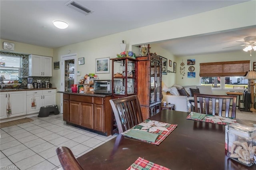
[[[137,95],[110,99],[119,134],[142,123],[142,112]]]

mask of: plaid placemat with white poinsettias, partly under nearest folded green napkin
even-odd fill
[[[162,125],[164,125],[164,126],[162,126]],[[155,142],[149,142],[149,141],[146,141],[146,140],[138,139],[138,140],[142,140],[142,141],[147,142],[147,143],[159,145],[162,141],[164,141],[164,139],[177,126],[178,125],[172,125],[172,124],[169,124],[169,123],[162,123],[162,122],[152,121],[152,120],[146,119],[144,122],[130,128],[130,129],[144,130],[144,131],[147,131],[147,132],[150,132],[150,133],[159,134],[158,137],[156,138]],[[166,129],[166,130],[163,130],[163,129]],[[124,135],[126,137],[129,137],[129,136],[126,135],[126,133],[129,130],[126,130],[125,132],[123,132],[122,135]],[[156,131],[154,131],[154,130],[156,130]]]

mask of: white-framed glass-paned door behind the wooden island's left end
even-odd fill
[[[61,56],[60,90],[70,90],[70,85],[77,82],[77,55],[68,54]],[[63,94],[60,93],[60,113],[63,113]]]

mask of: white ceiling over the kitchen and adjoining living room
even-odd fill
[[[65,6],[69,0],[0,0],[0,38],[55,48],[246,1],[76,0],[94,11],[85,16]],[[69,27],[55,28],[54,20],[64,20]],[[240,50],[239,46],[230,46],[241,45],[236,41],[246,36],[256,36],[256,27],[159,44],[177,56],[198,55]]]

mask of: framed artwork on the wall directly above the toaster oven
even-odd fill
[[[96,58],[95,73],[110,73],[110,57]]]

